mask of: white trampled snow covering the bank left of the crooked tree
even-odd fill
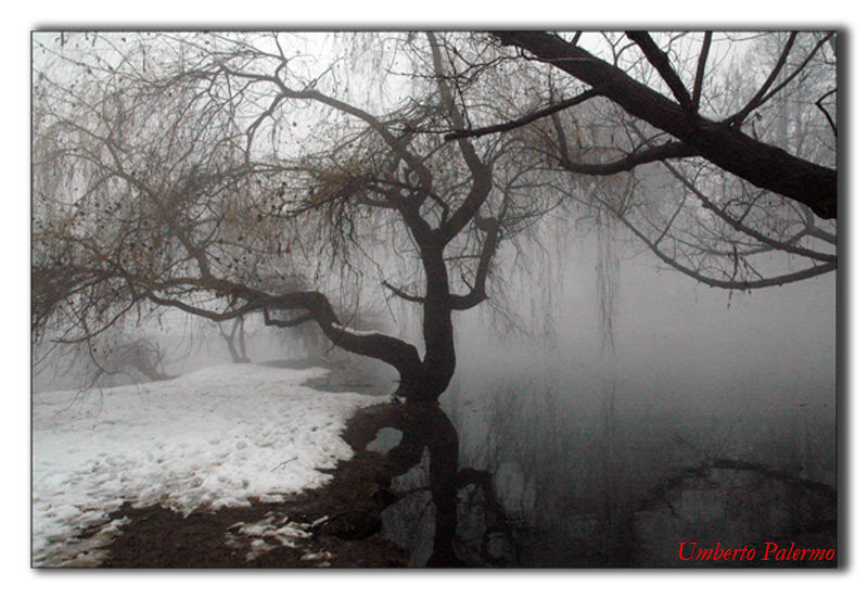
[[[71,537],[126,500],[189,513],[282,501],[323,484],[330,476],[318,469],[352,456],[344,422],[385,400],[302,386],[326,372],[224,365],[171,381],[35,394],[34,563],[59,564]]]

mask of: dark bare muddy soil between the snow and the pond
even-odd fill
[[[353,373],[330,374],[310,386],[329,391],[370,388]],[[344,387],[344,388],[342,388]],[[367,393],[372,393],[368,391]],[[329,471],[332,481],[280,504],[253,502],[248,508],[195,511],[187,517],[162,506],[133,508],[125,504],[110,514],[127,518],[120,534],[106,547],[104,568],[404,568],[406,552],[376,536],[381,510],[395,500],[388,490],[384,458],[365,446],[376,431],[400,418],[400,408],[379,405],[352,418],[343,433],[355,456]],[[328,519],[315,525],[317,521]],[[270,541],[251,555],[253,537],[233,535],[239,523],[271,519],[309,526],[311,535],[294,547]],[[95,534],[86,532],[82,537]],[[235,543],[228,543],[233,538]],[[240,540],[240,541],[239,541]],[[265,540],[269,540],[265,537]],[[311,558],[311,555],[315,556]]]

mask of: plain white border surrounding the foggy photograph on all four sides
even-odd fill
[[[865,202],[861,197],[863,184],[850,177],[843,187],[853,199],[850,206],[851,224],[846,229],[853,240],[845,251],[853,263],[844,291],[851,315],[845,321],[850,336],[850,393],[846,421],[848,430],[850,457],[844,462],[853,476],[851,484],[842,490],[850,494],[851,523],[846,538],[848,547],[841,547],[850,568],[840,574],[788,575],[781,573],[758,575],[712,575],[660,574],[660,573],[570,573],[570,574],[515,574],[498,575],[456,575],[425,573],[414,575],[387,575],[365,573],[326,574],[324,576],[298,573],[277,575],[241,575],[239,573],[186,573],[167,575],[154,573],[123,573],[122,575],[99,575],[81,573],[35,573],[28,570],[29,562],[29,364],[25,347],[29,346],[27,314],[29,313],[28,264],[28,153],[29,126],[24,116],[28,112],[29,77],[29,30],[37,27],[56,25],[100,25],[148,28],[183,26],[245,25],[250,28],[297,27],[328,29],[339,26],[387,26],[405,28],[424,24],[433,28],[455,28],[497,23],[502,27],[510,25],[536,25],[564,28],[569,23],[592,24],[596,27],[624,26],[629,24],[658,24],[661,28],[673,25],[714,24],[719,27],[749,27],[756,24],[765,26],[814,27],[822,24],[845,27],[848,31],[848,47],[852,63],[845,81],[851,87],[847,117],[850,156],[846,162],[856,170],[864,165],[863,144],[867,139],[865,118],[859,110],[865,97],[866,42],[868,22],[852,0],[826,0],[824,2],[756,2],[756,0],[728,0],[711,4],[689,0],[667,2],[662,8],[659,2],[647,0],[622,0],[620,2],[547,2],[506,3],[501,1],[438,0],[437,2],[390,1],[378,2],[281,2],[260,0],[255,3],[233,4],[214,1],[178,2],[149,0],[148,2],[115,1],[60,1],[12,2],[4,7],[3,44],[4,66],[11,74],[12,86],[3,94],[8,118],[4,133],[3,164],[7,180],[3,199],[11,212],[2,219],[0,239],[3,253],[11,259],[3,262],[7,267],[3,296],[3,313],[12,315],[12,334],[4,342],[4,372],[11,377],[12,384],[5,400],[8,411],[3,419],[3,451],[7,459],[7,485],[3,494],[4,540],[2,563],[7,586],[27,586],[30,597],[150,597],[155,592],[170,591],[171,596],[194,595],[197,597],[234,597],[264,592],[291,592],[304,598],[308,594],[320,596],[336,592],[350,592],[354,598],[380,597],[388,585],[388,592],[408,590],[413,597],[437,597],[455,592],[459,588],[462,596],[508,596],[557,592],[558,596],[579,595],[627,596],[671,598],[675,594],[691,592],[709,597],[723,597],[737,594],[740,597],[758,597],[765,594],[786,594],[788,597],[822,597],[830,595],[855,596],[859,583],[866,582],[868,572],[868,515],[858,508],[865,505],[866,485],[863,460],[868,457],[868,435],[858,434],[868,426],[864,402],[868,397],[868,372],[863,367],[868,351],[868,326],[859,308],[868,304],[865,260],[868,259],[868,235],[858,234],[867,222]],[[856,68],[855,66],[858,66]],[[11,191],[11,192],[10,192]],[[842,301],[844,297],[842,296]],[[10,409],[11,408],[11,409]],[[12,484],[10,485],[9,482]],[[842,522],[843,524],[843,522]],[[79,574],[79,575],[76,575]],[[691,573],[693,574],[693,573]]]

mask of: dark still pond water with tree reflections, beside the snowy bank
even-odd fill
[[[837,564],[833,407],[730,402],[703,419],[643,407],[611,378],[482,386],[484,400],[459,379],[443,409],[408,406],[369,444],[400,497],[381,535],[412,565]]]

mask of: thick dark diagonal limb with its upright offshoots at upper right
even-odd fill
[[[793,33],[791,38],[794,40],[796,36]],[[498,31],[495,37],[502,43],[531,52],[540,61],[579,79],[591,87],[593,94],[608,98],[627,113],[678,140],[668,142],[665,148],[643,148],[630,153],[623,158],[621,169],[663,157],[699,155],[757,187],[802,202],[820,218],[835,217],[838,178],[834,168],[793,156],[741,131],[749,117],[786,89],[827,42],[837,53],[833,33],[816,40],[813,50],[802,63],[781,80],[778,76],[793,46],[792,41],[788,43],[756,93],[740,110],[720,122],[711,120],[700,114],[706,60],[713,42],[711,33],[705,35],[703,49],[695,61],[692,93],[674,68],[671,54],[661,49],[648,33],[626,34],[630,46],[641,51],[675,101],[631,78],[616,64],[607,63],[582,48],[578,36],[573,36],[574,42],[545,31]],[[616,58],[623,52],[623,48],[617,49]],[[837,132],[837,125],[832,129]],[[580,166],[574,168],[582,170]]]

